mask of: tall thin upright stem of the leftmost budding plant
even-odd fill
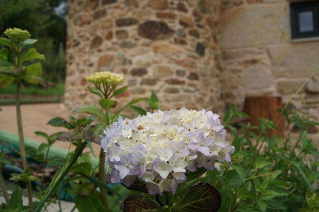
[[[21,160],[23,169],[26,170],[28,168],[28,164],[26,162],[26,148],[24,145],[23,138],[23,128],[22,128],[22,117],[21,117],[21,108],[20,108],[20,87],[21,80],[17,79],[17,91],[16,91],[16,113],[17,113],[17,123],[18,123],[18,131],[19,131],[19,141],[20,141],[20,152],[21,152]],[[33,202],[32,202],[32,187],[31,182],[26,182],[26,189],[28,193],[29,205],[31,206],[31,212],[33,212]]]

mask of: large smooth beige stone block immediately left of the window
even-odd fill
[[[277,44],[290,40],[288,3],[253,4],[225,10],[221,16],[221,47]]]

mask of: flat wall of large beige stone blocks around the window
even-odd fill
[[[220,25],[226,104],[242,108],[245,97],[263,95],[285,103],[319,66],[319,41],[291,39],[288,1],[222,0]],[[318,120],[318,94],[316,74],[293,104]]]

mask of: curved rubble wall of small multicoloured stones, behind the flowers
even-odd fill
[[[69,108],[96,104],[85,76],[111,71],[130,85],[119,102],[153,89],[164,110],[223,109],[219,0],[69,0],[68,9]]]

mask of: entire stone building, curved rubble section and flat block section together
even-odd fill
[[[222,112],[229,103],[241,108],[247,96],[285,102],[319,66],[319,37],[292,38],[293,3],[69,0],[64,102],[70,108],[95,102],[85,76],[107,70],[123,73],[123,85],[130,85],[120,102],[152,90],[163,109]],[[304,105],[302,94],[294,104],[319,118],[318,81],[302,93]]]

